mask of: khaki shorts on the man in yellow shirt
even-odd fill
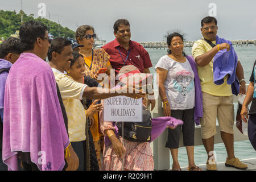
[[[220,131],[233,134],[233,96],[212,96],[203,92],[203,111],[204,115],[200,122],[203,139],[208,139],[217,133],[216,117]]]

